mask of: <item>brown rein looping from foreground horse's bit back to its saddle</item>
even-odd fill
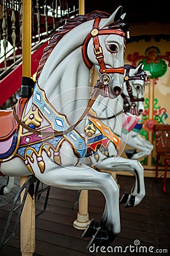
[[[57,137],[57,136],[61,136],[61,135],[65,135],[67,133],[70,133],[71,131],[73,131],[75,129],[75,127],[83,120],[83,118],[86,116],[86,114],[88,113],[89,109],[92,107],[92,105],[94,104],[96,98],[99,96],[100,90],[103,89],[103,83],[99,82],[97,85],[94,86],[94,91],[91,94],[90,97],[90,101],[88,102],[88,105],[86,107],[86,109],[84,110],[83,114],[81,115],[81,117],[78,119],[78,121],[75,123],[75,125],[72,125],[69,127],[69,129],[65,130],[65,131],[40,131],[40,130],[35,130],[32,129],[31,127],[29,127],[28,125],[25,125],[25,123],[23,123],[19,118],[18,115],[15,112],[15,108],[13,106],[13,115],[15,120],[19,123],[19,125],[21,125],[23,128],[25,128],[26,130],[30,131],[33,134],[37,134],[37,135],[44,135],[44,136],[53,136],[53,137]]]

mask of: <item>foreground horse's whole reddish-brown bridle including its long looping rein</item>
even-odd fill
[[[75,127],[86,116],[89,109],[94,104],[96,98],[99,96],[100,90],[103,89],[104,86],[109,84],[109,82],[111,81],[111,77],[108,75],[108,73],[120,73],[122,75],[124,74],[124,72],[125,72],[124,67],[120,67],[120,68],[106,68],[105,67],[103,49],[100,46],[98,35],[117,34],[117,35],[125,37],[125,32],[123,30],[128,31],[129,25],[125,24],[124,21],[122,19],[120,19],[120,20],[118,20],[118,22],[114,23],[112,27],[109,27],[108,29],[104,29],[104,30],[99,30],[98,29],[99,23],[100,23],[100,18],[96,18],[95,21],[94,21],[94,26],[92,28],[92,31],[87,35],[86,39],[84,40],[84,43],[83,43],[83,46],[82,46],[82,54],[83,54],[84,62],[86,63],[87,67],[89,69],[91,69],[93,64],[91,63],[90,59],[88,58],[87,46],[88,46],[88,42],[90,41],[90,39],[93,38],[94,39],[94,53],[96,55],[96,59],[97,59],[99,65],[100,65],[100,72],[101,72],[102,75],[100,77],[100,81],[97,82],[96,86],[94,86],[94,91],[91,94],[91,97],[90,97],[90,100],[88,102],[88,105],[87,105],[86,109],[84,110],[83,114],[78,119],[78,121],[75,123],[75,125],[70,126],[69,129],[67,129],[65,131],[50,132],[50,131],[35,130],[35,129],[32,129],[31,127],[25,125],[25,123],[23,123],[18,118],[18,115],[15,112],[15,108],[13,107],[13,115],[14,115],[14,118],[16,119],[16,121],[19,123],[19,125],[21,125],[25,129],[27,129],[31,133],[34,133],[34,134],[37,134],[37,135],[57,137],[57,136],[61,136],[61,135],[70,133],[70,131],[74,130]],[[114,29],[113,29],[113,27],[114,27]],[[120,28],[122,28],[122,29],[120,29]],[[28,86],[29,86],[29,84],[28,84]]]

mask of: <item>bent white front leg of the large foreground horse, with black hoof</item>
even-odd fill
[[[44,157],[45,161],[45,157]],[[51,187],[73,189],[73,190],[99,190],[103,193],[106,207],[101,217],[98,229],[94,227],[92,240],[88,248],[96,246],[107,246],[120,233],[120,212],[119,212],[119,188],[110,174],[98,172],[91,167],[80,164],[79,167],[59,167],[54,162],[47,160],[45,171],[41,174],[35,170],[35,176],[42,183]],[[97,231],[97,232],[96,232]]]

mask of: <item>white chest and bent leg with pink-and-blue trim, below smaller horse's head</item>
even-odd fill
[[[122,140],[134,150],[125,150],[130,159],[139,159],[151,154],[154,145],[140,135],[143,125],[142,115],[126,113],[122,125]]]

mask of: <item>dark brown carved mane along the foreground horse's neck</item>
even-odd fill
[[[37,75],[36,75],[36,80],[39,79],[40,73],[42,71],[42,68],[44,67],[44,64],[46,60],[48,59],[50,53],[53,51],[54,47],[56,44],[59,42],[59,40],[63,37],[63,35],[67,34],[70,30],[75,28],[76,26],[87,22],[88,20],[92,20],[95,18],[108,18],[110,14],[104,13],[102,11],[93,11],[90,14],[87,15],[79,15],[75,16],[75,18],[72,19],[66,19],[66,23],[64,26],[62,26],[59,31],[57,32],[56,35],[52,36],[52,38],[48,42],[48,46],[45,47],[44,53],[41,57],[39,67],[37,68]]]

